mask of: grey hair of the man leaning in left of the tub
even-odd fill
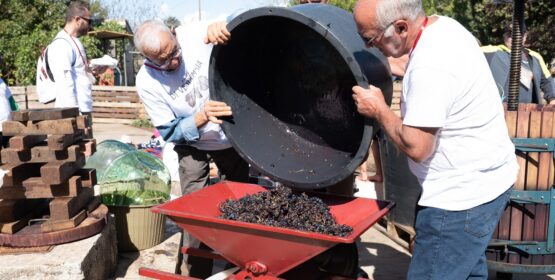
[[[158,33],[160,32],[171,34],[171,30],[159,20],[151,19],[141,23],[137,27],[133,38],[137,50],[143,55],[145,54],[144,50],[158,52],[160,50],[160,37]]]

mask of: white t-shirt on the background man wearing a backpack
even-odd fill
[[[48,46],[48,64],[56,81],[56,104],[92,112],[92,81],[86,71],[87,54],[78,38],[64,30]]]

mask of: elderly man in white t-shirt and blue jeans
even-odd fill
[[[353,87],[358,111],[407,154],[422,185],[408,279],[487,279],[485,250],[518,165],[484,55],[461,24],[426,16],[420,0],[359,0],[354,18],[367,47],[409,55],[401,118],[380,89]]]

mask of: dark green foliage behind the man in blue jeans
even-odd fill
[[[299,4],[291,0],[290,5]],[[458,20],[483,44],[502,44],[503,27],[512,20],[513,5],[493,0],[422,0],[426,14]],[[329,0],[328,4],[353,11],[356,0]],[[529,31],[527,46],[540,52],[546,61],[555,58],[555,5],[551,0],[526,1],[525,21]]]

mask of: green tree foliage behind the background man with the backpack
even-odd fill
[[[0,0],[0,55],[4,58],[2,77],[9,85],[35,83],[36,63],[43,48],[63,28],[68,0]],[[105,17],[99,1],[90,1],[93,17]],[[108,25],[105,30],[113,30]],[[118,30],[116,30],[118,31]],[[119,30],[121,31],[121,30]],[[100,41],[80,38],[87,57],[102,55]]]

